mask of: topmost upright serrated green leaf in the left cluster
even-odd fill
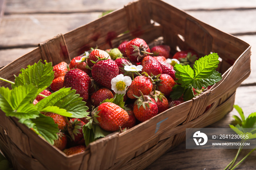
[[[33,84],[37,87],[38,93],[47,88],[53,81],[54,72],[52,63],[43,64],[40,61],[34,65],[28,65],[26,69],[21,69],[18,77],[15,76],[15,84],[13,86]]]

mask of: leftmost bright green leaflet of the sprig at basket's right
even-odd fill
[[[195,77],[195,72],[189,65],[176,64],[174,70],[176,71],[175,77],[178,78],[176,82],[181,84],[181,87],[191,84]]]

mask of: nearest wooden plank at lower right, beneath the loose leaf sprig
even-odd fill
[[[256,95],[252,95],[255,93],[255,86],[237,88],[235,104],[243,109],[246,116],[256,111]],[[229,124],[234,120],[232,115],[238,116],[235,109],[222,120],[206,128],[229,128]],[[224,169],[235,157],[236,152],[237,150],[233,149],[186,149],[185,142],[183,142],[180,146],[162,155],[146,169]],[[249,150],[242,151],[238,160],[241,160],[248,152]],[[241,169],[255,169],[255,156],[256,152],[253,152],[239,167]]]

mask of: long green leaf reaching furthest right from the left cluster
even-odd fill
[[[86,102],[82,101],[83,98],[75,93],[75,89],[62,88],[40,100],[35,106],[38,110],[42,110],[48,106],[57,106],[61,109],[65,109],[68,113],[71,113],[72,115],[69,117],[86,117],[89,115],[89,112],[87,112],[89,108],[85,105]]]

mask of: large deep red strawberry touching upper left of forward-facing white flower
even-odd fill
[[[91,70],[94,80],[108,89],[111,89],[111,80],[118,75],[118,72],[119,68],[112,59],[98,61]]]

